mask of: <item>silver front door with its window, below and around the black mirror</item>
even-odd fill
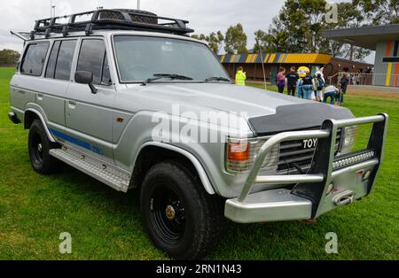
[[[92,94],[88,85],[72,82],[66,93],[66,127],[74,144],[93,151],[100,157],[113,159],[112,119],[115,88],[108,66],[103,38],[83,38],[76,71],[93,73]]]

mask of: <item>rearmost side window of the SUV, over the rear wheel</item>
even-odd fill
[[[31,43],[27,46],[25,56],[22,59],[20,73],[40,76],[43,72],[44,61],[46,59],[49,42]]]

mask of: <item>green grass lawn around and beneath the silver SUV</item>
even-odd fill
[[[0,259],[168,259],[142,228],[136,190],[116,192],[71,167],[51,176],[31,169],[27,131],[6,116],[12,74],[0,69]],[[315,224],[228,222],[208,259],[399,259],[399,98],[348,95],[346,105],[356,116],[390,115],[372,196]],[[62,232],[72,235],[72,254],[59,254]],[[338,235],[339,254],[325,253],[328,232]]]

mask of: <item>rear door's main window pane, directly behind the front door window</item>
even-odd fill
[[[76,41],[61,41],[60,43],[59,57],[56,62],[54,78],[68,81],[71,75]]]

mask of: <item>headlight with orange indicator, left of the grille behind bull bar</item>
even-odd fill
[[[254,166],[254,161],[267,139],[233,139],[229,138],[226,146],[226,170],[230,173],[249,171]],[[262,169],[277,170],[278,145],[270,151],[263,161]]]

